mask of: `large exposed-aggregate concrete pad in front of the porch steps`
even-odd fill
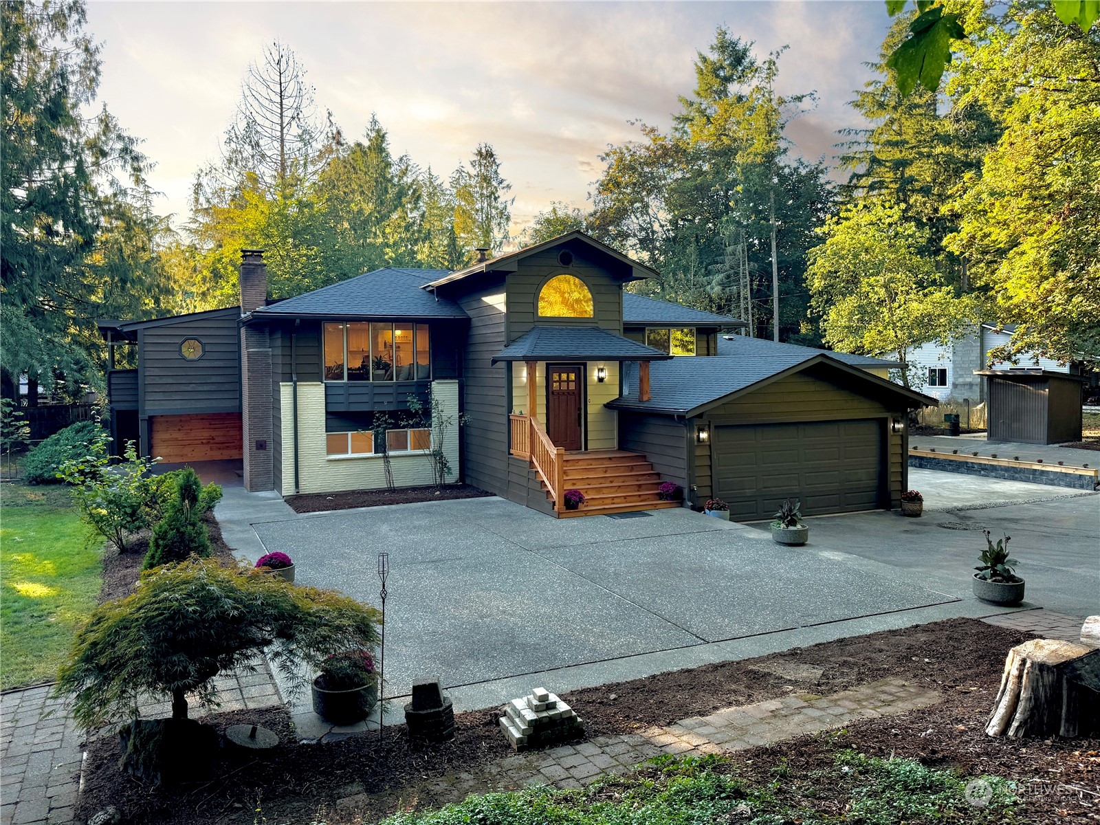
[[[267,550],[292,554],[300,584],[374,605],[376,556],[391,554],[389,695],[426,675],[448,686],[522,685],[522,674],[593,663],[602,663],[598,674],[552,684],[600,684],[756,654],[752,646],[765,638],[781,650],[997,612],[960,606],[965,592],[928,586],[916,571],[782,548],[757,530],[685,509],[559,520],[475,498],[253,527]],[[644,661],[622,666],[635,660]],[[492,704],[479,701],[463,704]]]

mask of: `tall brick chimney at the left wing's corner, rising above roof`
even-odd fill
[[[241,250],[241,315],[267,304],[267,266],[263,250]],[[267,328],[241,327],[241,425],[244,436],[244,488],[275,486],[272,407],[272,350]]]

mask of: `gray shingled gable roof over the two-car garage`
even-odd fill
[[[900,396],[910,408],[936,406],[938,402],[926,395],[905,389],[886,378],[880,378],[857,366],[845,364],[825,352],[814,352],[809,346],[791,348],[792,351],[743,352],[736,355],[678,358],[653,363],[649,369],[648,402],[616,398],[607,406],[616,409],[636,409],[663,415],[695,416],[730,400],[737,395],[778,381],[811,366],[823,364],[847,373],[869,391]],[[809,350],[809,354],[798,350]]]

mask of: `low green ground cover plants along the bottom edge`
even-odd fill
[[[832,766],[793,779],[783,765],[771,781],[747,780],[728,757],[658,757],[635,773],[607,777],[583,790],[535,788],[470,796],[427,813],[404,812],[386,825],[619,825],[619,823],[861,823],[922,825],[937,822],[1002,823],[1014,785],[982,777],[992,791],[985,807],[966,799],[968,777],[915,759],[879,759],[839,749]],[[779,793],[796,785],[798,794]],[[828,810],[837,798],[847,813]],[[825,804],[822,804],[825,803]],[[821,810],[824,807],[825,810]]]

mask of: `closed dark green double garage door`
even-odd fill
[[[812,421],[718,427],[714,490],[730,518],[769,518],[784,498],[807,516],[879,506],[882,422]]]

